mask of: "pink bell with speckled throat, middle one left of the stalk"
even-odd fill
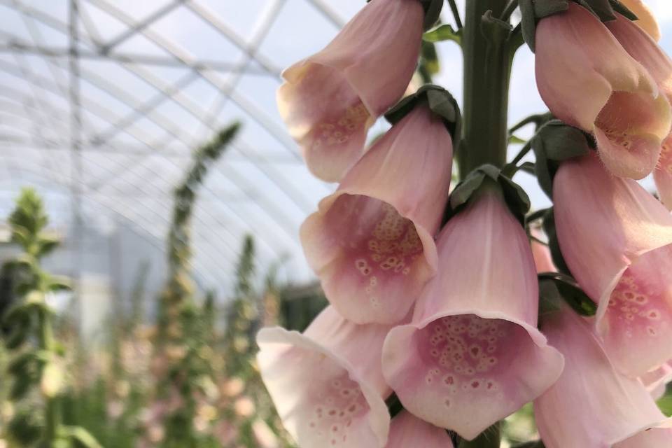
[[[396,323],[408,314],[436,269],[451,157],[442,118],[418,105],[303,223],[306,258],[345,318]]]

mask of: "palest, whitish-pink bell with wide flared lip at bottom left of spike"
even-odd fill
[[[259,369],[300,447],[385,446],[391,393],[381,373],[389,327],[356,325],[328,307],[303,333],[263,328]]]

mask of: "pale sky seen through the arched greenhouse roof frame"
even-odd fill
[[[314,179],[302,165],[276,111],[278,73],[323,48],[363,0],[190,0],[174,7],[173,0],[81,0],[77,29],[83,55],[116,43],[109,54],[117,59],[143,55],[205,62],[210,68],[82,57],[82,170],[75,178],[68,3],[0,0],[0,216],[8,213],[18,188],[30,184],[47,198],[55,225],[67,228],[71,187],[78,179],[87,225],[111,235],[120,223],[130,223],[160,247],[172,188],[190,150],[239,119],[241,135],[209,174],[196,209],[195,270],[202,283],[227,292],[242,237],[252,233],[260,271],[285,260],[283,279],[312,279],[297,231],[335,186]],[[463,9],[464,2],[458,3]],[[647,3],[661,25],[661,46],[670,53],[672,2]],[[127,33],[130,25],[162,10],[167,13],[140,34]],[[449,8],[443,18],[452,22]],[[58,54],[45,58],[8,49],[17,43]],[[442,71],[435,83],[459,99],[460,52],[451,42],[437,48]],[[532,53],[521,48],[512,72],[510,123],[546,109],[533,64]],[[384,125],[372,134],[381,129]],[[533,207],[548,205],[531,176],[519,174],[516,180]]]

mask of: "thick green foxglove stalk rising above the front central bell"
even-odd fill
[[[503,167],[507,148],[507,106],[511,57],[505,28],[484,23],[503,13],[503,0],[467,1],[462,49],[464,55],[463,141],[457,162],[460,178],[490,163]]]

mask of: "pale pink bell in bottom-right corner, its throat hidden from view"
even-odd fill
[[[566,304],[544,314],[541,330],[565,356],[555,384],[534,400],[546,448],[667,448],[672,434],[646,388],[615,370],[594,323]]]

